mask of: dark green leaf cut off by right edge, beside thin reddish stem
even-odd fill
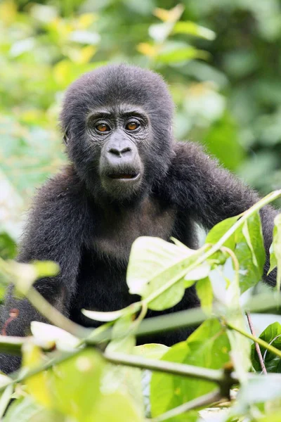
[[[279,322],[270,324],[259,336],[266,343],[270,343],[278,350],[281,350],[281,325]],[[276,354],[266,351],[265,347],[260,346],[263,362],[268,372],[281,373],[281,359]],[[261,364],[256,353],[255,345],[251,345],[251,363],[256,371],[261,371]]]

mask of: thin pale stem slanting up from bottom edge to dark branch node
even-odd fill
[[[186,411],[192,409],[197,409],[198,407],[205,407],[207,404],[218,402],[221,397],[221,392],[219,390],[214,390],[208,394],[202,395],[201,397],[196,397],[196,399],[190,400],[190,402],[181,404],[181,406],[175,407],[169,411],[166,411],[164,414],[157,416],[156,418],[150,419],[151,422],[162,422],[167,419],[174,418],[175,416],[181,415]]]

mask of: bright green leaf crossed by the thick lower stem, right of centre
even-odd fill
[[[162,360],[220,369],[229,361],[229,352],[228,337],[221,324],[216,319],[210,319],[197,328],[188,340],[171,347]],[[210,381],[152,373],[152,416],[162,414],[215,388],[216,384]]]

